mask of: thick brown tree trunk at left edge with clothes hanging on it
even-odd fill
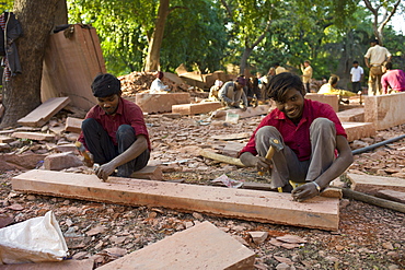
[[[40,105],[43,58],[58,2],[44,0],[38,4],[37,1],[14,1],[14,13],[23,28],[23,36],[15,42],[22,74],[12,77],[3,85],[5,113],[0,128],[15,126],[20,118]]]

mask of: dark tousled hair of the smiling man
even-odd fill
[[[271,78],[267,85],[266,93],[267,96],[275,102],[282,102],[286,92],[290,89],[298,90],[302,96],[305,95],[305,89],[301,78],[290,72],[282,72]]]

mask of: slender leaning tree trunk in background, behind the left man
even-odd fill
[[[160,69],[160,48],[163,42],[164,24],[170,13],[169,3],[170,0],[160,0],[158,19],[155,22],[152,37],[149,42],[148,56],[144,67],[146,71]]]

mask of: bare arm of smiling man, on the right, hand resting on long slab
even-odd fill
[[[310,198],[313,198],[320,193],[317,186],[322,189],[326,188],[329,183],[336,177],[340,176],[354,162],[351,154],[351,149],[344,136],[336,137],[336,149],[339,152],[337,159],[332,163],[331,167],[326,169],[322,175],[316,179],[310,179],[314,183],[306,183],[301,187],[292,190],[292,198],[296,201],[304,201]]]

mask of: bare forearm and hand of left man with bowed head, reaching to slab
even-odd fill
[[[132,145],[130,145],[124,153],[117,155],[111,162],[103,164],[102,166],[96,168],[95,174],[99,176],[100,179],[106,180],[118,166],[137,159],[147,149],[147,138],[143,134],[139,134],[137,136],[137,140],[132,143]]]

